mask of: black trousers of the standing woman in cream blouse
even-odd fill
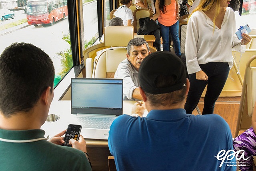
[[[207,64],[200,64],[199,66],[208,76],[208,80],[196,80],[196,73],[189,75],[190,88],[185,103],[185,109],[187,113],[192,113],[207,84],[202,114],[212,114],[215,102],[226,83],[230,69],[227,62],[209,62]]]

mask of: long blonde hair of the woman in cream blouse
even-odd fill
[[[199,11],[199,10],[208,11],[208,10],[211,10],[212,8],[216,8],[215,16],[213,18],[213,31],[214,31],[215,20],[216,20],[217,16],[220,14],[220,0],[201,0],[199,2],[198,6],[192,11],[190,16],[196,11]],[[190,16],[189,16],[189,18],[190,18]]]

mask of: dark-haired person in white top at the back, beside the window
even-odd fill
[[[132,6],[132,0],[120,0],[120,4],[122,4],[122,6],[117,8],[114,12],[114,16],[122,18],[124,26],[132,26],[134,19],[132,10],[129,8]]]

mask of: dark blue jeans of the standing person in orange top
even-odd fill
[[[169,51],[169,30],[172,35],[172,41],[174,44],[175,54],[177,56],[181,56],[180,53],[180,38],[179,38],[179,21],[172,26],[164,26],[160,22],[158,22],[160,26],[160,32],[163,39],[163,50]]]

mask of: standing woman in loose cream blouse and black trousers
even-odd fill
[[[186,33],[186,65],[190,81],[185,109],[192,113],[207,84],[202,114],[211,114],[233,66],[232,48],[241,51],[252,39],[235,36],[234,11],[230,0],[201,0],[188,20]]]

